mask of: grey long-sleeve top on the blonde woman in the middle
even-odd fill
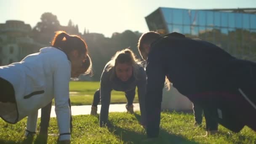
[[[145,124],[145,92],[146,92],[146,72],[143,67],[139,66],[136,76],[133,76],[126,82],[122,82],[115,75],[115,68],[107,71],[108,64],[105,66],[101,75],[100,97],[101,97],[101,112],[99,123],[103,126],[107,123],[109,115],[109,104],[111,91],[131,91],[138,88],[139,106],[141,111],[141,124]],[[134,70],[134,69],[133,69]]]

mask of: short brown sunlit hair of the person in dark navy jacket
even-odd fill
[[[147,32],[141,35],[138,42],[138,50],[139,54],[141,55],[142,59],[147,60],[148,54],[145,52],[145,49],[143,48],[144,44],[151,44],[156,39],[161,37],[161,35],[157,32]]]

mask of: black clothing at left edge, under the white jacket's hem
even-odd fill
[[[5,102],[16,103],[13,85],[1,77],[0,77],[0,85],[1,85],[0,91],[2,93],[1,94],[2,96],[0,96],[0,101],[4,103]]]

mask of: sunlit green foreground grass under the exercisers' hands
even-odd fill
[[[100,128],[98,118],[91,115],[73,116],[73,144],[255,144],[256,133],[245,127],[240,133],[233,133],[219,126],[219,133],[203,137],[203,128],[194,127],[193,115],[178,112],[162,112],[160,136],[153,141],[146,141],[146,133],[139,125],[139,113],[134,115],[123,113],[109,113],[110,128]],[[40,119],[38,120],[38,123]],[[24,139],[26,119],[16,125],[0,120],[0,143],[43,143],[45,139],[37,135],[33,140]],[[39,126],[39,125],[37,125]],[[205,121],[203,121],[205,127]],[[38,127],[39,129],[39,127]],[[51,118],[48,133],[58,133],[56,118]],[[57,136],[48,136],[49,144],[56,143]]]

